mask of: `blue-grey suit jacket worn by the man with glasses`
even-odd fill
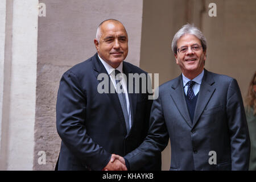
[[[243,101],[234,78],[205,70],[193,122],[189,117],[182,76],[159,87],[154,100],[150,131],[139,148],[126,155],[137,169],[154,151],[171,141],[170,170],[247,170],[250,138]],[[209,164],[210,151],[216,164]],[[210,159],[211,160],[211,159]],[[211,160],[212,161],[212,160]]]

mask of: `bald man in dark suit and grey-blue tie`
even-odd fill
[[[152,101],[148,93],[130,92],[128,83],[133,80],[128,75],[146,72],[123,61],[128,53],[125,27],[118,20],[104,20],[97,28],[94,44],[97,53],[69,69],[60,80],[56,104],[61,138],[58,170],[127,170],[129,163],[110,161],[111,157],[135,150],[147,134]],[[114,87],[114,92],[99,92],[102,73],[107,76],[103,81],[109,83],[109,90]],[[118,84],[124,92],[117,92]],[[142,85],[140,80],[140,90]],[[139,168],[160,169],[160,152]]]

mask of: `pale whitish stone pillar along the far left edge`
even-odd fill
[[[36,98],[38,1],[5,1],[6,32],[1,115],[1,169],[32,170]],[[1,9],[5,9],[1,1]],[[2,18],[2,16],[1,16]],[[1,19],[2,23],[4,20]]]

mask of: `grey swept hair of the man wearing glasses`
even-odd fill
[[[199,28],[195,27],[193,24],[191,25],[187,23],[184,26],[182,26],[182,28],[180,28],[179,31],[177,31],[177,33],[174,35],[174,39],[172,39],[172,51],[175,54],[177,53],[177,41],[181,38],[181,36],[185,34],[195,35],[201,41],[203,51],[206,51],[207,40],[203,33],[199,30]]]

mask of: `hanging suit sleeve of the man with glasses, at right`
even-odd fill
[[[227,94],[226,113],[230,132],[232,170],[248,170],[250,137],[245,109],[237,81],[232,79]]]

